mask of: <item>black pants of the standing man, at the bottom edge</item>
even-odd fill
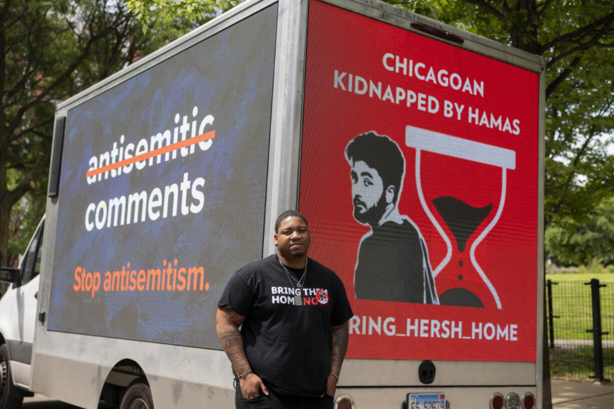
[[[295,397],[281,395],[268,390],[268,396],[260,391],[260,396],[255,399],[244,399],[241,386],[235,386],[235,407],[236,409],[332,409],[333,397],[324,395],[323,397]]]

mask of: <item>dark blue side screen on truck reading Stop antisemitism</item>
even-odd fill
[[[262,255],[277,6],[69,109],[49,330],[219,348]]]

